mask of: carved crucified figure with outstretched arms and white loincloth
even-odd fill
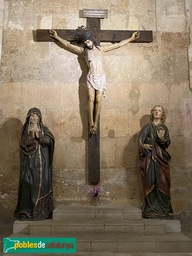
[[[83,27],[83,26],[82,26]],[[103,69],[103,56],[105,52],[117,49],[119,47],[124,46],[136,39],[139,38],[140,32],[134,32],[132,36],[126,40],[123,40],[117,44],[110,44],[110,45],[99,45],[97,46],[95,43],[95,39],[90,33],[91,29],[79,29],[82,31],[81,41],[84,44],[84,47],[80,47],[77,45],[70,44],[65,39],[60,38],[57,35],[55,30],[50,30],[49,34],[51,37],[57,39],[61,42],[64,46],[68,49],[72,49],[77,53],[82,53],[85,57],[86,63],[89,67],[89,72],[87,74],[87,90],[89,96],[88,102],[88,111],[89,111],[89,124],[90,124],[90,131],[89,133],[95,134],[97,133],[97,124],[98,119],[101,111],[101,99],[102,96],[105,97],[105,73]],[[96,93],[95,93],[96,92]],[[93,121],[93,108],[94,108],[94,100],[96,100],[96,113],[95,113],[95,120]]]

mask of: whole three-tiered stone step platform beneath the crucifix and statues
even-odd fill
[[[180,231],[179,220],[142,219],[134,206],[70,205],[50,220],[15,221],[11,237],[76,237],[77,253],[192,252]]]

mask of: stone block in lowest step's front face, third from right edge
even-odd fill
[[[118,252],[117,243],[91,243],[91,252]]]

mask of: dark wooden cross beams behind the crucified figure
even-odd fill
[[[95,42],[100,45],[100,42],[118,43],[122,40],[131,37],[132,33],[137,30],[101,30],[100,19],[101,18],[87,18],[89,19],[89,26],[97,27],[98,30],[95,33]],[[54,29],[58,36],[61,38],[75,42],[76,40],[69,35],[70,32],[76,30],[69,29]],[[152,30],[139,30],[140,37],[131,43],[151,43],[153,42]],[[57,42],[48,34],[49,29],[37,29],[37,42]],[[94,118],[94,112],[93,112]],[[94,119],[93,119],[94,120]],[[88,125],[89,131],[89,125]],[[100,182],[100,118],[97,126],[97,134],[90,135],[88,137],[88,181],[92,183]]]

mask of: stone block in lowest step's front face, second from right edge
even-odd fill
[[[118,243],[118,252],[156,252],[155,243]]]

